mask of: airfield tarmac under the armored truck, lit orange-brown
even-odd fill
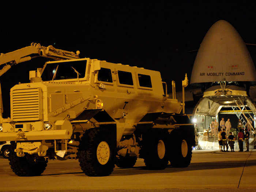
[[[78,160],[49,161],[38,177],[18,177],[8,163],[0,158],[0,191],[256,191],[256,150],[193,150],[187,168],[165,170],[146,170],[138,159],[133,168],[116,167],[107,177],[86,176]]]

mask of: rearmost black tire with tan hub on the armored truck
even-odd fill
[[[173,167],[188,167],[192,158],[192,145],[188,137],[179,130],[170,134],[168,158]]]

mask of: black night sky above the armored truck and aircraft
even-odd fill
[[[252,3],[61,2],[1,5],[0,53],[31,42],[80,50],[81,58],[160,71],[163,81],[170,84],[175,80],[179,91],[185,73],[189,79],[191,76],[197,53],[191,50],[199,48],[218,20],[231,23],[244,42],[256,44],[256,8]],[[248,49],[256,63],[256,46]],[[4,116],[10,116],[10,88],[18,82],[29,82],[29,71],[42,67],[45,61],[34,59],[16,65],[0,77]]]

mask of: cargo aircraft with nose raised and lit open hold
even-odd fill
[[[255,82],[255,65],[236,29],[225,20],[214,23],[205,35],[193,65],[190,87],[197,89],[190,90],[190,97],[187,95],[186,99],[188,103],[195,101],[196,96],[200,98],[193,109],[197,132],[208,129],[211,121],[218,120],[220,114],[232,114],[244,127],[251,118],[253,123],[249,122],[248,127],[253,133]],[[232,127],[236,128],[237,124],[233,122]]]

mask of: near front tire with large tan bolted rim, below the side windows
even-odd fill
[[[83,134],[78,157],[87,176],[108,176],[114,169],[113,134],[105,128],[92,128]]]

